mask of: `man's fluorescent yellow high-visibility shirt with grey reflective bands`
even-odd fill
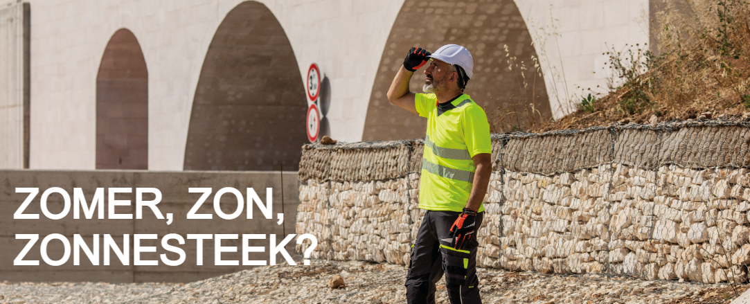
[[[437,107],[434,94],[417,94],[414,104],[428,119],[419,208],[461,212],[474,182],[472,157],[492,153],[487,114],[466,94],[447,107]],[[478,211],[484,211],[484,203]]]

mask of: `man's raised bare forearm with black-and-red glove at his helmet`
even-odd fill
[[[412,79],[414,71],[428,62],[428,56],[430,55],[430,52],[421,48],[412,47],[409,50],[407,58],[404,59],[404,65],[398,70],[393,83],[391,83],[391,88],[388,89],[388,94],[386,94],[388,101],[411,113],[419,114],[414,106],[415,94],[409,91],[409,80]]]

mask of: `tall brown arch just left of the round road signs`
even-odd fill
[[[281,24],[242,2],[218,27],[200,72],[184,170],[298,170],[305,85]]]

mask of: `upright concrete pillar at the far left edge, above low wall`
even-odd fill
[[[0,8],[0,169],[28,168],[28,3]]]

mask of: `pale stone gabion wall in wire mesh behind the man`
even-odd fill
[[[493,134],[492,145],[479,266],[747,281],[748,125]],[[408,263],[422,149],[305,146],[297,232],[316,234],[313,257]]]

